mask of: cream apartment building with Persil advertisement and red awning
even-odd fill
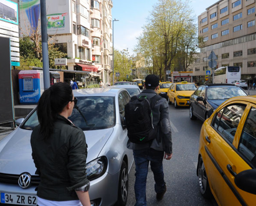
[[[21,27],[36,28],[40,1],[19,1]],[[67,53],[64,80],[75,78],[85,85],[100,78],[109,81],[112,63],[112,1],[46,1],[47,32],[51,43]],[[25,29],[24,29],[25,30]]]

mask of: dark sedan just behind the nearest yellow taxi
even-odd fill
[[[211,116],[214,110],[226,100],[234,96],[247,96],[239,86],[233,84],[201,85],[190,96],[189,117],[201,121]]]

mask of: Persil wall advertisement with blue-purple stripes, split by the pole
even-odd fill
[[[19,10],[23,35],[37,29],[40,32],[40,0],[21,0]],[[69,0],[46,0],[48,35],[71,34],[70,12]]]

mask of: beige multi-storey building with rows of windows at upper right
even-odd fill
[[[200,53],[190,67],[195,80],[204,81],[211,51],[217,67],[240,66],[241,78],[256,74],[255,0],[221,0],[198,16]]]

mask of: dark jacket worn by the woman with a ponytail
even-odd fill
[[[32,157],[40,176],[37,196],[46,200],[78,200],[75,189],[89,184],[86,178],[87,144],[84,132],[58,116],[53,134],[46,140],[33,129]]]

